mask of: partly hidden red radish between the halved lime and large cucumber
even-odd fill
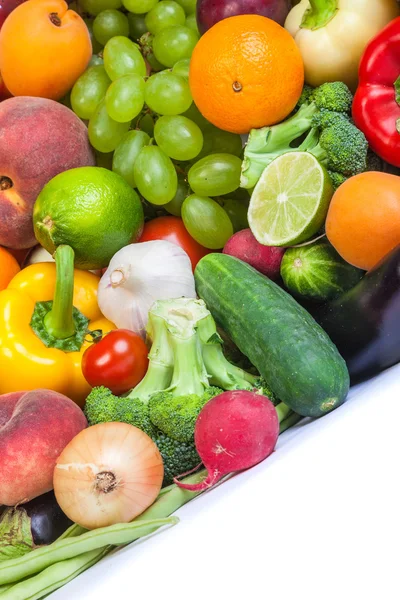
[[[239,258],[270,279],[278,279],[285,248],[263,246],[250,229],[242,229],[226,242],[223,253]]]

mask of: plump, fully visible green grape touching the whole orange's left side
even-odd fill
[[[159,115],[179,115],[192,103],[189,84],[171,71],[156,73],[146,81],[145,102]]]

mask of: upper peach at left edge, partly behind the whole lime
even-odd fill
[[[66,106],[19,96],[0,103],[0,245],[32,248],[32,211],[55,175],[94,166],[84,123]]]

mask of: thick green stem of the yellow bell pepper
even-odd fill
[[[70,246],[59,246],[55,253],[56,289],[52,309],[44,319],[48,333],[65,340],[74,335],[72,318],[74,296],[74,251]]]

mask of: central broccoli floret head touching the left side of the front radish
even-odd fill
[[[161,392],[150,398],[150,419],[161,431],[178,442],[192,442],[196,419],[203,406],[222,390],[209,387],[201,396],[174,396]]]

